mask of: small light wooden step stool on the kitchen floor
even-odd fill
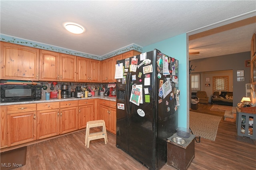
[[[102,127],[101,132],[90,133],[90,128],[93,127]],[[85,134],[85,146],[89,148],[90,141],[95,139],[104,138],[105,144],[108,142],[108,136],[106,131],[106,125],[104,120],[97,120],[97,121],[88,121],[86,123],[86,134]]]

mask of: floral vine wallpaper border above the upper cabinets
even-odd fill
[[[28,47],[35,47],[35,48],[39,48],[39,49],[45,49],[45,50],[55,51],[55,52],[59,52],[59,53],[66,53],[66,54],[70,54],[70,55],[76,55],[76,56],[90,58],[90,59],[96,59],[96,60],[108,59],[115,55],[119,55],[119,54],[125,53],[127,51],[131,51],[131,50],[136,50],[136,51],[142,52],[142,47],[140,47],[136,44],[131,44],[131,45],[127,45],[126,47],[123,47],[121,49],[118,49],[117,51],[114,51],[112,53],[109,53],[109,54],[106,54],[103,56],[98,56],[98,55],[91,55],[91,54],[87,54],[87,53],[81,53],[78,51],[72,51],[72,50],[68,50],[68,49],[64,49],[64,48],[60,48],[60,47],[54,47],[52,45],[42,44],[42,43],[33,42],[33,41],[29,41],[29,40],[24,40],[21,38],[6,36],[4,34],[0,34],[0,40],[2,42],[10,42],[10,43],[15,43],[15,44],[19,44],[19,45],[25,45]]]

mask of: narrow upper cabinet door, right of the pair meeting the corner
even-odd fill
[[[90,60],[90,82],[100,83],[101,64],[100,61],[91,59]]]

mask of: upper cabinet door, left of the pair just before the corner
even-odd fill
[[[79,82],[90,81],[90,59],[84,57],[76,57],[77,76]]]

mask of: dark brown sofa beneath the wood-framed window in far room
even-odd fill
[[[212,104],[233,106],[233,92],[214,91],[212,95]]]

